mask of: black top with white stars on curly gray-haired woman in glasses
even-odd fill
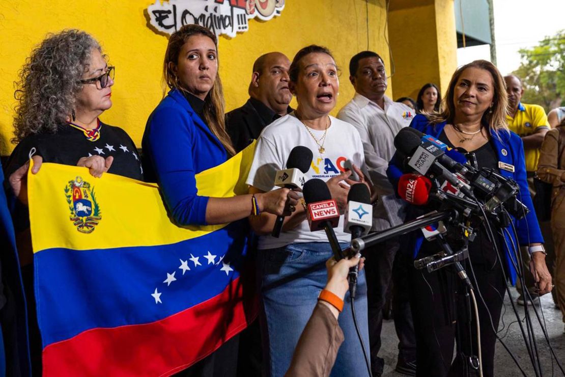
[[[80,129],[60,125],[56,133],[29,135],[14,149],[8,159],[6,176],[17,170],[32,155],[43,157],[44,162],[76,166],[81,157],[101,155],[114,157],[109,173],[143,180],[140,157],[128,134],[119,127],[102,123],[100,137],[89,141]]]

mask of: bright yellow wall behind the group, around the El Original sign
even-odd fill
[[[153,0],[2,0],[0,2],[0,154],[14,145],[12,120],[14,81],[33,46],[48,32],[79,28],[92,33],[116,66],[114,106],[102,115],[124,128],[139,146],[150,112],[161,99],[160,77],[167,38],[147,27],[145,8]],[[385,0],[370,0],[369,46],[388,66],[384,40]],[[342,68],[335,112],[353,96],[349,58],[367,48],[365,0],[286,0],[281,16],[251,20],[249,31],[235,38],[220,37],[220,76],[227,110],[247,99],[255,58],[268,51],[293,55],[308,44],[329,47]],[[396,78],[395,78],[396,79]],[[390,89],[389,89],[390,90]]]

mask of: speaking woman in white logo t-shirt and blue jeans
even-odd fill
[[[332,54],[325,47],[308,46],[298,51],[290,65],[289,87],[298,101],[296,111],[277,119],[262,132],[255,149],[247,184],[250,192],[268,192],[273,186],[275,172],[286,167],[290,151],[298,145],[306,146],[314,154],[308,178],[326,181],[332,198],[341,211],[345,209],[350,171],[344,162],[350,160],[363,168],[363,145],[357,130],[349,123],[329,115],[337,102],[339,80]],[[364,182],[364,175],[354,170]],[[297,206],[292,216],[287,216],[279,238],[271,231],[276,216],[260,214],[251,219],[259,237],[258,280],[262,311],[264,367],[267,375],[282,376],[290,365],[298,338],[312,314],[316,299],[324,288],[325,261],[332,256],[324,231],[311,232],[306,211]],[[351,236],[343,231],[344,216],[334,228],[342,248],[348,246]],[[349,304],[345,297],[340,327],[345,341],[338,352],[332,375],[366,375],[362,348],[355,332]],[[368,345],[367,285],[364,272],[360,272],[355,314],[363,337]]]

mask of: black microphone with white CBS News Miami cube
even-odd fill
[[[471,192],[471,188],[459,180],[455,174],[447,170],[445,166],[454,169],[463,176],[467,174],[468,167],[448,157],[436,144],[428,140],[424,142],[421,141],[422,137],[425,136],[429,138],[431,136],[424,135],[418,130],[415,130],[416,132],[409,131],[408,128],[410,127],[402,128],[394,137],[394,146],[397,150],[410,156],[408,165],[422,175],[432,172],[432,174],[440,176],[454,185],[454,187],[461,190],[467,197],[474,198],[475,196]],[[419,137],[419,135],[421,136]]]

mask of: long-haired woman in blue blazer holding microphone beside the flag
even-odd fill
[[[171,90],[149,116],[142,147],[146,180],[159,184],[173,221],[231,223],[222,229],[232,237],[228,248],[244,244],[248,234],[247,221],[237,220],[263,211],[290,215],[298,196],[289,189],[232,198],[198,195],[195,175],[235,154],[224,125],[217,43],[214,33],[198,25],[186,25],[169,38],[163,75]],[[230,376],[236,362],[237,343],[231,340],[183,375]]]

